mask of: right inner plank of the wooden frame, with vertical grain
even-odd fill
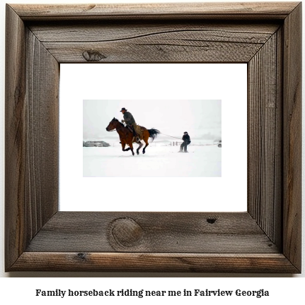
[[[282,44],[275,32],[248,63],[248,212],[281,248]]]

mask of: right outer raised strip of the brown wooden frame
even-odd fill
[[[301,3],[284,22],[284,255],[301,270]]]

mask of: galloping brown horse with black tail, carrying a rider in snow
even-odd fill
[[[142,148],[143,144],[141,142],[137,142],[135,140],[134,133],[130,131],[130,128],[125,127],[124,124],[120,123],[119,120],[113,118],[112,121],[110,121],[109,125],[106,127],[106,131],[113,131],[116,129],[117,133],[120,136],[121,144],[122,144],[122,150],[123,151],[132,151],[132,155],[134,155],[134,148],[132,146],[132,143],[136,142],[139,144],[139,148],[137,148],[137,155],[139,155],[139,150]],[[145,153],[145,148],[149,145],[149,138],[152,138],[153,140],[156,138],[156,136],[159,135],[160,131],[154,128],[151,129],[144,129],[143,133],[143,140],[145,142],[145,147],[143,148],[143,153]],[[126,144],[129,146],[129,148],[125,149]]]

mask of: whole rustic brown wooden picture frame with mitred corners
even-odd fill
[[[58,211],[60,63],[248,64],[246,213]],[[301,272],[301,2],[6,5],[5,268]]]

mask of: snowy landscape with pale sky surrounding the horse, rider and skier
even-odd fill
[[[140,126],[160,131],[145,154],[137,155],[137,143],[134,156],[123,152],[115,128],[106,130],[113,117],[123,119],[123,107]],[[185,131],[189,152],[178,153]],[[219,140],[221,100],[83,101],[83,177],[221,177]]]

